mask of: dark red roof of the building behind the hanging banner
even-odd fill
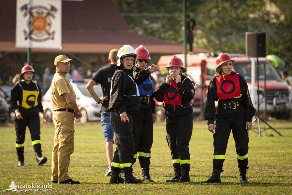
[[[0,52],[26,52],[15,48],[16,1],[0,0]],[[113,0],[62,1],[62,51],[108,53],[128,44],[144,45],[152,54],[183,53],[183,45],[132,32]],[[31,49],[60,52],[59,49]],[[194,53],[210,51],[194,48]]]

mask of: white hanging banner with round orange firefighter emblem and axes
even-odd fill
[[[62,47],[62,0],[17,0],[15,47]]]

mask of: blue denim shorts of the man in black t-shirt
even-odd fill
[[[112,124],[110,122],[110,112],[102,112],[100,124],[102,127],[102,133],[105,137],[105,143],[111,141],[112,143],[116,143],[114,141],[114,128],[112,128]]]

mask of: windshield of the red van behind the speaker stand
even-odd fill
[[[264,66],[265,65],[265,66]],[[249,62],[235,62],[234,69],[237,73],[241,74],[246,80],[251,80],[251,63]],[[264,75],[264,67],[266,69],[266,74]],[[269,61],[259,62],[259,79],[264,79],[266,76],[267,80],[278,80],[281,79],[276,69],[272,66]],[[257,77],[257,67],[256,67],[256,79]]]

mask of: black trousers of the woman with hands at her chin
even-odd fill
[[[173,163],[179,163],[182,168],[190,167],[189,143],[193,131],[193,114],[181,117],[166,117],[166,140],[171,151]]]

